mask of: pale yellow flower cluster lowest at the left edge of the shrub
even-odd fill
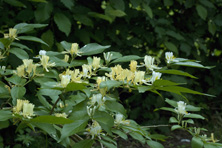
[[[35,105],[29,103],[28,100],[17,99],[17,105],[13,107],[13,113],[23,115],[25,118],[31,118],[32,116],[35,116],[33,114],[34,107]]]

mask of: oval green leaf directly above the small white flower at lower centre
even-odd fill
[[[126,116],[126,111],[125,108],[123,107],[122,104],[116,102],[116,101],[109,101],[107,100],[105,102],[106,108],[110,111],[116,112],[116,113],[121,113],[124,116]]]

